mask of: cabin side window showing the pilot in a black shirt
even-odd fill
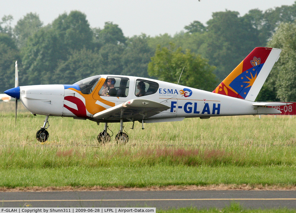
[[[101,96],[127,97],[129,78],[108,76],[99,91]]]

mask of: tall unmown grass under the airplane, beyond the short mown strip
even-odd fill
[[[8,104],[8,105],[7,105]],[[98,144],[103,125],[73,118],[50,117],[49,140],[37,142],[44,116],[0,103],[0,168],[63,168],[154,165],[272,166],[296,165],[296,119],[288,116],[234,116],[207,120],[146,124],[124,123],[129,142],[114,137]],[[117,134],[118,123],[109,128]],[[110,131],[109,131],[110,132]],[[112,134],[110,132],[110,134]]]

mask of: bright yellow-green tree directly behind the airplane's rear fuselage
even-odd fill
[[[191,53],[190,50],[182,52],[181,47],[175,49],[172,43],[170,48],[156,49],[155,56],[148,64],[148,73],[157,77],[159,80],[178,83],[201,90],[213,91],[217,82],[213,74],[214,66],[210,66],[205,58]]]

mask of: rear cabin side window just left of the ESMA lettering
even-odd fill
[[[159,84],[153,81],[137,79],[135,95],[137,97],[151,95],[157,92]]]

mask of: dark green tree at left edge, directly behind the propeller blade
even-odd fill
[[[0,33],[0,93],[15,85],[15,61],[20,59],[19,51],[9,34]],[[20,61],[18,61],[20,65]]]

